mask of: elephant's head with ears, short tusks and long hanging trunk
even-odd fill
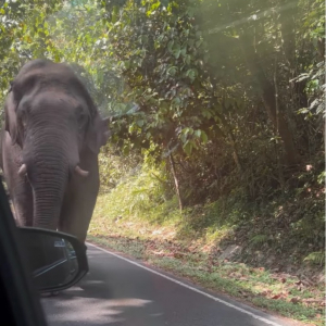
[[[108,122],[72,68],[47,60],[23,66],[4,108],[5,130],[21,148],[18,174],[33,189],[33,224],[55,229],[67,183],[89,177],[80,154],[97,159]]]

